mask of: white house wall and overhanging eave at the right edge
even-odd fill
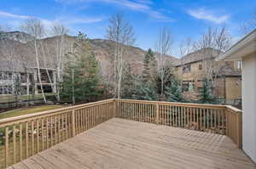
[[[236,42],[217,60],[241,60],[242,149],[256,162],[256,30]]]

